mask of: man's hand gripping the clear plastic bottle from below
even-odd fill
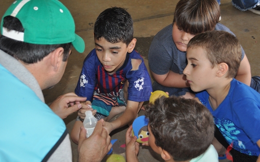
[[[79,134],[79,162],[101,162],[111,149],[111,137],[103,128],[104,120],[97,122],[94,132],[86,138],[86,130],[80,127]]]

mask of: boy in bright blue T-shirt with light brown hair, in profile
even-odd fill
[[[189,42],[188,65],[183,71],[191,89],[198,92],[195,100],[213,115],[217,140],[212,144],[219,154],[232,147],[234,162],[256,161],[260,155],[260,94],[234,79],[241,52],[232,34],[207,31]]]

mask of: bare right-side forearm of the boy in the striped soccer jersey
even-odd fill
[[[104,128],[106,131],[111,133],[113,130],[121,128],[126,124],[132,124],[134,119],[137,117],[138,112],[142,106],[143,102],[127,101],[127,106],[123,114],[111,122],[105,122]]]

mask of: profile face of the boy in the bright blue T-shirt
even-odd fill
[[[187,49],[188,64],[183,74],[186,75],[187,82],[194,92],[207,90],[216,85],[218,66],[212,68],[206,54],[206,51],[201,47]]]

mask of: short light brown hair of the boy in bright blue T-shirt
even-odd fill
[[[187,48],[203,48],[212,68],[222,62],[228,65],[227,78],[234,78],[241,62],[242,49],[238,39],[222,30],[207,31],[194,36]]]

